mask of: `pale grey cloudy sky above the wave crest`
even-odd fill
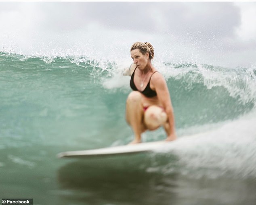
[[[256,2],[0,2],[0,51],[256,67]]]

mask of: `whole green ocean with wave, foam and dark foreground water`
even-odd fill
[[[0,52],[0,196],[34,205],[255,205],[256,68],[153,65],[166,79],[178,139],[147,154],[59,159],[132,141],[130,64]],[[142,135],[165,137],[162,128]]]

